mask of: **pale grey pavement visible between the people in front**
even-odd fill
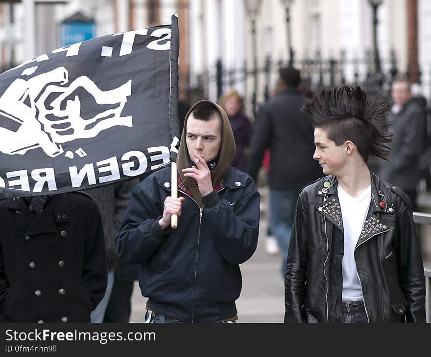
[[[237,300],[238,322],[283,322],[284,279],[280,275],[281,257],[265,252],[266,191],[261,191],[261,223],[258,247],[254,255],[240,265],[242,291]],[[138,282],[132,297],[131,322],[144,320],[146,298],[141,295]]]

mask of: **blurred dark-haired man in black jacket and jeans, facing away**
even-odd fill
[[[250,144],[248,173],[255,180],[269,148],[269,224],[282,251],[283,276],[298,191],[321,176],[312,159],[312,128],[301,112],[306,98],[298,90],[300,82],[297,69],[280,70],[281,90],[259,111]]]

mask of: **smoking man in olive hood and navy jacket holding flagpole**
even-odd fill
[[[234,153],[224,110],[198,102],[181,135],[178,198],[171,197],[170,167],[135,188],[117,246],[121,260],[141,264],[145,321],[238,319],[239,264],[256,250],[260,196],[253,179],[230,166]],[[178,215],[176,229],[172,214]]]

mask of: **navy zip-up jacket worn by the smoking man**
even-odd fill
[[[202,197],[203,208],[183,196],[178,228],[158,221],[170,196],[170,168],[135,188],[117,236],[121,260],[141,264],[139,285],[147,306],[182,322],[213,322],[235,316],[241,291],[239,264],[258,241],[260,195],[254,181],[230,167],[224,188]]]

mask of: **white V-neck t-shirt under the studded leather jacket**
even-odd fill
[[[337,187],[344,227],[343,301],[361,301],[362,290],[354,257],[362,227],[371,202],[371,185],[359,196],[352,197],[340,185]]]

